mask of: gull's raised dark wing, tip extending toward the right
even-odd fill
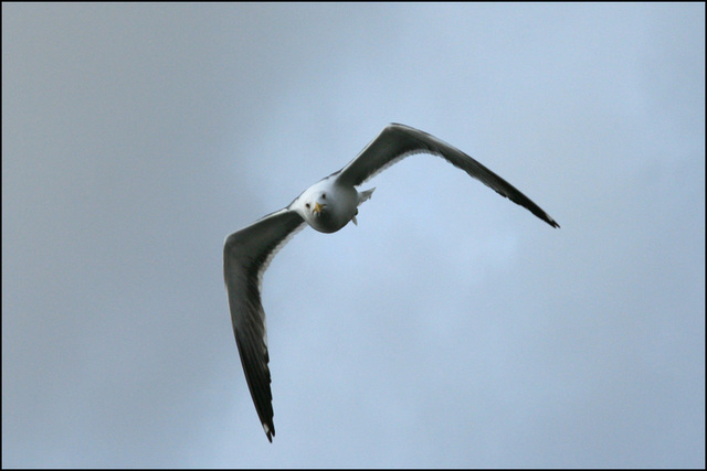
[[[356,159],[335,175],[338,174],[337,179],[341,183],[357,186],[401,159],[421,152],[444,158],[500,195],[527,208],[552,227],[560,226],[528,196],[476,160],[434,136],[404,125],[386,126]]]

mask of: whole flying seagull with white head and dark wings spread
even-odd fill
[[[235,343],[255,410],[271,442],[275,426],[261,301],[263,274],[277,250],[306,224],[323,233],[335,233],[349,222],[357,224],[358,206],[376,189],[359,192],[356,186],[414,153],[442,157],[550,226],[559,227],[525,194],[466,153],[421,130],[390,124],[341,170],[309,186],[288,206],[229,235],[223,245],[223,276]]]

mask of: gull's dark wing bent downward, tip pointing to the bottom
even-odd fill
[[[223,245],[223,277],[241,364],[265,435],[273,441],[273,395],[267,367],[265,311],[261,303],[263,272],[277,250],[305,221],[284,208],[231,234]]]

